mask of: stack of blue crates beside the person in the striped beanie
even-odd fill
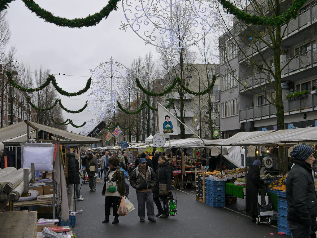
[[[287,202],[285,191],[277,191],[277,231],[291,235],[287,222]]]

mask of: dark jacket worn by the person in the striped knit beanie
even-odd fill
[[[286,181],[287,219],[310,226],[316,220],[317,197],[310,164],[294,160]]]

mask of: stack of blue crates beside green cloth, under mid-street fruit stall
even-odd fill
[[[223,208],[226,198],[226,181],[206,179],[206,203],[213,208]]]

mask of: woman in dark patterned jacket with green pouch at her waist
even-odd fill
[[[111,224],[119,223],[119,215],[117,214],[118,207],[120,205],[120,197],[126,194],[126,186],[125,186],[125,179],[124,179],[124,172],[120,169],[119,164],[120,161],[117,157],[112,156],[108,160],[109,163],[109,171],[107,175],[105,175],[106,182],[102,188],[102,196],[106,195],[105,197],[105,220],[102,223],[109,222],[110,216],[110,208],[111,205],[113,206],[113,216],[114,220]],[[121,201],[121,200],[120,200]]]

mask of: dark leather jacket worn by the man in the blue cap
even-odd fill
[[[148,166],[146,166],[146,175],[144,176],[141,168],[138,166],[132,171],[130,176],[130,184],[132,188],[135,188],[138,191],[140,190],[149,190],[151,191],[156,185],[156,175],[154,170],[150,167],[151,174],[149,174]],[[139,175],[136,177],[136,170],[138,169]],[[143,174],[143,175],[142,175]]]

